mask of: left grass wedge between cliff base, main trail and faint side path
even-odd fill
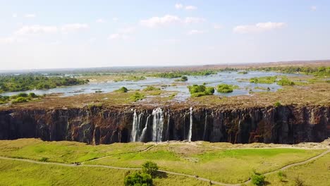
[[[138,144],[138,145],[137,145]],[[111,154],[142,151],[151,144],[142,143],[87,145],[79,142],[42,142],[36,139],[3,140],[0,141],[0,156],[22,159],[73,163],[87,161]]]

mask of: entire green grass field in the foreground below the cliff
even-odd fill
[[[208,143],[202,143],[207,146]],[[215,147],[230,147],[216,143]],[[147,151],[143,151],[152,147]],[[16,157],[49,162],[97,164],[126,168],[140,168],[145,161],[154,161],[161,170],[197,175],[202,178],[226,183],[247,180],[253,171],[267,173],[290,163],[305,161],[321,154],[320,149],[219,149],[186,143],[163,144],[108,144],[92,146],[79,142],[42,142],[35,139],[0,141],[0,156]],[[97,159],[99,157],[104,159]],[[93,160],[93,161],[90,161]],[[292,184],[293,178],[301,174],[319,182],[329,177],[330,155],[305,166],[285,171],[286,182],[280,182],[276,174],[267,176],[267,181],[277,185]],[[315,169],[315,175],[312,172]],[[307,171],[308,170],[308,171]],[[122,185],[127,171],[111,168],[85,166],[63,167],[35,163],[0,160],[0,185]],[[82,176],[83,175],[83,176]],[[21,179],[20,179],[21,178]],[[84,181],[85,180],[85,181]],[[64,184],[64,182],[68,184]],[[90,183],[93,184],[90,184]],[[108,184],[109,183],[109,184]],[[209,185],[195,178],[166,175],[157,178],[155,185]]]

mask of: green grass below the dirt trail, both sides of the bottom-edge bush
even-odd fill
[[[127,171],[109,168],[63,167],[0,160],[0,185],[123,185]],[[154,185],[207,185],[178,175],[154,179]]]

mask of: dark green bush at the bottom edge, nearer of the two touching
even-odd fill
[[[152,186],[152,176],[147,173],[131,173],[124,180],[126,186]]]

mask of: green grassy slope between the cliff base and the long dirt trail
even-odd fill
[[[92,146],[78,142],[42,142],[34,139],[5,140],[0,141],[0,156],[35,160],[44,157],[48,158],[48,161],[72,163],[111,154],[112,156],[107,158],[87,163],[139,168],[142,163],[151,160],[163,170],[199,175],[219,182],[237,183],[247,180],[254,169],[260,173],[273,171],[288,163],[304,161],[323,151],[214,149],[195,147],[190,144],[159,144],[148,151],[139,152],[149,145],[129,143]],[[3,168],[2,165],[1,168]],[[168,176],[171,178],[170,175]],[[171,179],[166,181],[171,181]]]

